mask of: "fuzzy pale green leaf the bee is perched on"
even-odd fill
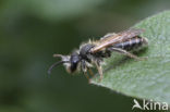
[[[170,11],[150,16],[134,26],[143,28],[148,49],[138,51],[146,61],[135,61],[113,53],[104,65],[104,79],[93,84],[126,96],[168,102],[170,104]]]

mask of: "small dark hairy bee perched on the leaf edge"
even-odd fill
[[[144,59],[131,53],[133,50],[147,47],[147,38],[139,36],[143,32],[144,29],[127,29],[118,34],[107,34],[99,40],[89,40],[83,43],[78,50],[73,51],[70,55],[53,54],[54,58],[61,58],[61,61],[52,64],[48,70],[48,74],[51,73],[54,66],[63,64],[69,73],[82,71],[90,82],[87,72],[93,75],[90,69],[95,65],[100,76],[99,80],[101,80],[101,64],[104,59],[111,57],[112,52],[118,52],[136,60]]]

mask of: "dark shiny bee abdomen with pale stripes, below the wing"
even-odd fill
[[[129,39],[126,41],[116,43],[112,47],[113,48],[121,48],[121,49],[131,51],[131,50],[135,50],[135,49],[142,48],[144,46],[147,46],[147,43],[148,42],[147,42],[146,38],[136,36],[136,37],[131,38],[131,39]]]

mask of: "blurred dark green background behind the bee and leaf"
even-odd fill
[[[0,112],[131,112],[133,98],[88,85],[53,53],[168,10],[169,0],[1,0]]]

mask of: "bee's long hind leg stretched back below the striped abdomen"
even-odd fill
[[[135,60],[138,60],[138,61],[142,61],[142,60],[146,60],[147,58],[138,58],[137,55],[133,54],[133,53],[130,53],[127,52],[126,50],[123,50],[123,49],[120,49],[120,48],[110,48],[109,50],[111,51],[116,51],[116,52],[119,52],[119,53],[123,53],[130,58],[133,58]]]

